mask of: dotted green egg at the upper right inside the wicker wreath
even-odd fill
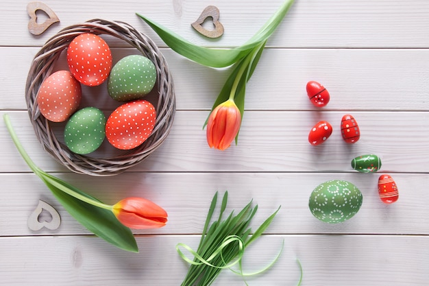
[[[156,67],[145,56],[131,55],[114,65],[108,78],[108,93],[119,102],[140,99],[156,83]]]

